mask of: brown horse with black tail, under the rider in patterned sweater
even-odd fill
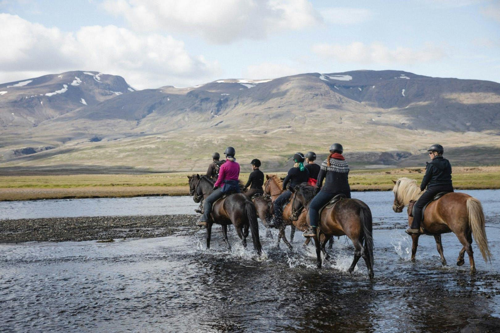
[[[309,204],[315,195],[315,187],[302,183],[293,189],[292,214],[298,216],[300,210],[306,214],[309,223]],[[354,245],[354,259],[348,272],[352,273],[359,258],[363,258],[368,269],[368,277],[373,279],[373,237],[372,218],[369,207],[358,199],[343,199],[330,208],[323,208],[319,216],[318,233],[314,236],[317,268],[321,268],[321,249],[332,236],[346,235]],[[325,256],[325,259],[327,257]]]

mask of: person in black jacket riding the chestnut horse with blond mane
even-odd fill
[[[451,183],[451,164],[442,157],[444,148],[440,144],[433,144],[427,149],[430,156],[430,162],[425,162],[425,175],[420,184],[420,191],[425,191],[415,202],[413,209],[413,222],[411,228],[406,229],[407,234],[420,233],[420,220],[422,218],[422,208],[426,203],[432,201],[432,198],[440,192],[453,192]]]

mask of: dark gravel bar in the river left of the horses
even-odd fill
[[[97,216],[0,220],[0,243],[64,242],[194,233],[196,215]]]

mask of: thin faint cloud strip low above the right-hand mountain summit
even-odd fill
[[[341,44],[315,44],[312,51],[320,57],[346,63],[364,64],[413,64],[442,59],[443,50],[428,45],[422,49],[396,47],[393,49],[381,43],[366,45],[362,42]]]

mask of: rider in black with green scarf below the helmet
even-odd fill
[[[304,155],[302,153],[295,153],[293,155],[293,167],[288,170],[288,174],[283,180],[283,193],[274,200],[274,219],[268,225],[269,228],[277,228],[283,223],[283,208],[291,197],[291,191],[286,190],[286,185],[290,183],[289,187],[294,188],[298,184],[306,183],[309,179],[309,171],[304,167]]]

